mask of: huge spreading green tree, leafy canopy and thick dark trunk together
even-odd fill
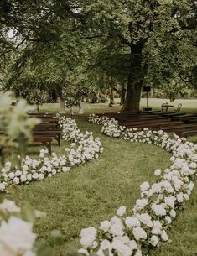
[[[4,0],[0,9],[2,65],[7,60],[10,77],[29,67],[59,94],[64,86],[95,91],[111,88],[111,79],[127,83],[122,110],[132,112],[143,85],[168,86],[175,76],[195,85],[193,0]]]

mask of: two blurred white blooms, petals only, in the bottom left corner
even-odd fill
[[[8,220],[0,219],[0,255],[35,256],[33,224],[16,217],[21,209],[13,201],[4,199],[0,211],[9,216]]]

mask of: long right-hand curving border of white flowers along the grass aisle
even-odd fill
[[[172,165],[163,171],[155,170],[158,181],[150,185],[147,181],[140,185],[141,197],[137,199],[132,214],[126,214],[121,206],[111,220],[101,222],[100,227],[84,228],[80,232],[83,248],[79,253],[98,256],[141,256],[151,248],[168,241],[167,229],[181,210],[184,201],[189,200],[194,188],[197,167],[197,144],[185,138],[169,138],[168,133],[144,128],[119,126],[113,118],[91,115],[91,123],[102,124],[102,133],[132,142],[155,144],[173,154]]]

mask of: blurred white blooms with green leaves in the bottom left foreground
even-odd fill
[[[14,201],[0,203],[0,256],[54,256],[54,251],[34,233],[36,218],[45,212],[34,211],[29,205],[18,207]],[[60,232],[51,232],[50,240],[58,245],[63,242]]]

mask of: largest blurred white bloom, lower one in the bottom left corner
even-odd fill
[[[36,235],[32,232],[32,224],[18,217],[11,216],[8,222],[3,221],[0,227],[0,244],[4,248],[23,254],[33,248]]]

